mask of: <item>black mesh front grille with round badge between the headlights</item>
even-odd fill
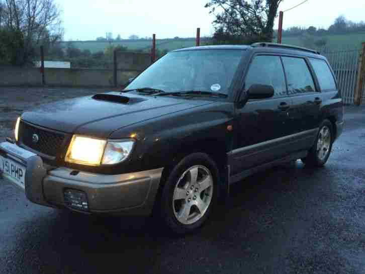
[[[37,142],[33,140],[34,134],[38,136]],[[60,151],[65,138],[62,133],[36,128],[23,121],[19,125],[19,137],[26,146],[52,157]]]

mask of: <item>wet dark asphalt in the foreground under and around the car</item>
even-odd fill
[[[185,237],[37,206],[0,178],[0,273],[365,273],[365,107],[345,112],[324,168],[250,176]]]

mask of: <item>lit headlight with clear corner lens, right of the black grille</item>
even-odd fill
[[[129,156],[133,143],[134,140],[113,142],[73,135],[65,161],[85,165],[120,163]]]

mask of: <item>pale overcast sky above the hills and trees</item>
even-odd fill
[[[212,35],[214,17],[204,8],[207,0],[55,0],[63,10],[65,40],[95,40],[112,32],[127,39],[156,33],[157,38]],[[285,0],[279,10],[289,9],[303,0]],[[328,28],[339,16],[365,21],[365,0],[308,0],[284,14],[284,28],[292,26]],[[277,22],[276,22],[277,28]]]

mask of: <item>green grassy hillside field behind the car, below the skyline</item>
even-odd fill
[[[327,39],[326,48],[336,51],[344,48],[360,48],[361,43],[365,42],[365,33],[351,33],[324,36]],[[316,37],[317,38],[317,37]],[[207,41],[207,40],[206,40]],[[300,37],[283,37],[283,44],[303,46]],[[203,45],[205,41],[202,41]],[[67,42],[62,42],[65,47]],[[124,40],[120,42],[104,42],[104,41],[72,41],[75,48],[81,50],[89,49],[92,53],[104,51],[110,45],[122,45],[128,49],[143,49],[148,51],[152,47],[152,40]],[[160,50],[168,51],[195,46],[195,38],[190,39],[157,39],[156,47]]]

